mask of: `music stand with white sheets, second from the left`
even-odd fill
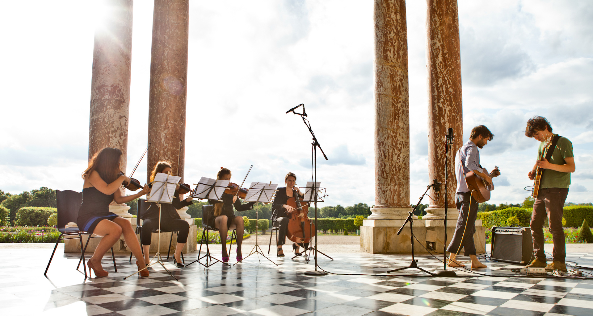
[[[229,185],[229,180],[215,180],[215,179],[211,179],[211,178],[206,178],[206,177],[202,177],[199,182],[194,183],[194,185],[196,186],[195,189],[193,189],[192,192],[192,198],[197,198],[197,199],[215,199],[218,200],[220,202],[222,202],[222,200],[220,199],[222,194],[224,193],[225,189],[228,188]],[[203,212],[202,212],[203,214]],[[206,223],[208,223],[208,219],[209,217],[206,218]],[[202,217],[202,226],[204,221],[204,217]],[[207,226],[207,224],[206,224]],[[204,227],[204,230],[208,230],[208,227]],[[202,234],[202,236],[204,236],[204,234]],[[222,262],[222,260],[217,259],[216,257],[213,257],[210,254],[210,248],[208,247],[208,232],[206,232],[206,254],[204,254],[203,256],[200,257],[200,254],[202,253],[202,246],[200,246],[200,250],[197,253],[197,259],[193,260],[192,262],[188,263],[186,265],[189,266],[192,263],[199,263],[200,265],[204,266],[204,267],[209,267],[214,265],[216,262],[220,262],[223,265],[227,265],[227,266],[231,266],[228,262]],[[222,247],[227,247],[227,245],[222,245]],[[202,260],[203,258],[206,258],[206,264],[200,262],[200,260]],[[208,264],[208,260],[211,261],[210,264]],[[213,260],[215,260],[214,262],[212,262]]]

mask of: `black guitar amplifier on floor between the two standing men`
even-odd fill
[[[533,256],[529,227],[492,227],[492,259],[527,265]]]

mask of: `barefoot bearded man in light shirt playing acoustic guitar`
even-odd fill
[[[476,269],[486,267],[479,262],[476,257],[476,246],[474,245],[474,233],[476,232],[476,217],[478,211],[477,199],[471,196],[471,190],[468,189],[466,183],[466,173],[473,171],[484,179],[490,188],[494,188],[492,178],[499,176],[498,169],[487,173],[487,170],[480,166],[480,153],[478,149],[482,149],[489,140],[492,140],[494,134],[484,125],[478,125],[471,130],[470,140],[467,141],[457,151],[455,159],[455,178],[457,178],[457,193],[455,194],[455,205],[459,211],[457,218],[457,226],[455,233],[451,239],[451,243],[447,247],[449,251],[449,263],[451,267],[463,267],[463,263],[455,260],[455,256],[459,254],[461,247],[464,247],[464,256],[469,256],[471,259],[471,267]]]

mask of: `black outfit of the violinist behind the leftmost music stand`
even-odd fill
[[[186,243],[189,234],[189,224],[181,220],[177,209],[192,205],[193,201],[187,202],[181,199],[181,195],[175,191],[173,203],[161,203],[161,229],[163,231],[178,231],[177,242]],[[152,203],[146,212],[140,214],[142,220],[142,234],[140,236],[143,245],[151,243],[152,232],[158,230],[158,206]]]

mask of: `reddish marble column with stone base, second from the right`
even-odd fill
[[[395,234],[412,210],[406,2],[375,0],[374,20],[375,207],[361,227],[361,248],[406,252],[409,235],[400,243]]]

